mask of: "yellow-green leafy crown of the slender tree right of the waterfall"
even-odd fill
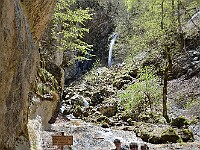
[[[166,45],[177,53],[182,27],[199,6],[198,0],[127,0],[126,5],[135,15],[130,54],[147,51],[152,57],[163,54]]]

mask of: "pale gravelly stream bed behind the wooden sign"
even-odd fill
[[[41,150],[59,150],[58,146],[52,145],[52,136],[61,135],[73,136],[73,145],[64,146],[64,150],[111,150],[115,146],[115,138],[121,140],[123,146],[128,146],[130,142],[137,142],[139,145],[145,143],[136,137],[133,131],[123,131],[114,128],[102,128],[95,124],[86,123],[80,119],[70,121],[60,121],[52,124],[50,131],[42,131]],[[168,143],[150,144],[146,143],[150,150],[199,150],[200,142],[191,143]]]

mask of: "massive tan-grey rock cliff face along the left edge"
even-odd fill
[[[0,149],[28,137],[28,94],[39,60],[36,46],[55,0],[0,2]],[[34,37],[34,38],[33,38]],[[28,141],[28,138],[26,138]]]

